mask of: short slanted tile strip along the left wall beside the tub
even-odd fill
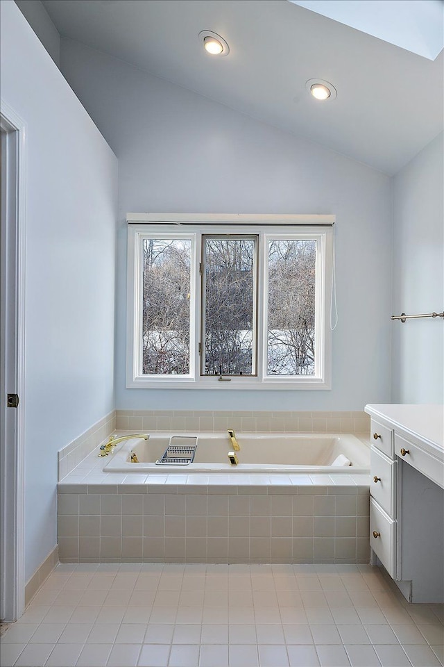
[[[81,436],[72,440],[69,445],[63,447],[58,452],[58,480],[60,481],[69,472],[92,452],[105,438],[107,438],[116,429],[116,413],[113,410],[103,419],[96,422],[90,429]]]

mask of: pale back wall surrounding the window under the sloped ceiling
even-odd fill
[[[117,408],[360,410],[388,402],[391,179],[77,42],[62,40],[61,67],[119,158]],[[128,211],[335,213],[332,390],[126,389]]]

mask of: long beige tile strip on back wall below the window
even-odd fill
[[[117,410],[116,429],[129,431],[302,431],[361,433],[370,429],[365,412]]]

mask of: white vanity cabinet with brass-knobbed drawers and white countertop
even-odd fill
[[[444,602],[443,406],[368,405],[370,547],[411,602]]]

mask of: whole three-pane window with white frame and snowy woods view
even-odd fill
[[[128,387],[330,388],[332,227],[248,218],[128,225]]]

